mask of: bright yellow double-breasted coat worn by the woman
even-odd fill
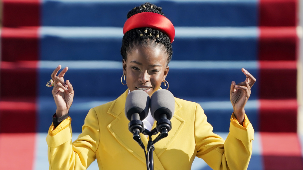
[[[128,89],[116,100],[92,108],[73,143],[70,117],[55,130],[51,125],[46,137],[49,169],[86,169],[95,159],[99,169],[146,169],[144,151],[128,131],[129,120],[124,114],[127,94]],[[191,169],[195,156],[213,169],[247,168],[254,130],[246,115],[242,127],[232,114],[224,141],[212,132],[199,104],[175,98],[171,124],[168,136],[155,143],[155,170]],[[146,136],[141,134],[141,139],[146,146]]]

